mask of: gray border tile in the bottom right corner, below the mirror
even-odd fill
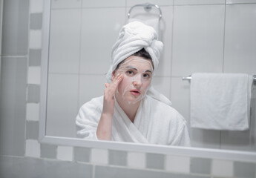
[[[255,170],[255,163],[234,162],[234,177],[255,178]]]

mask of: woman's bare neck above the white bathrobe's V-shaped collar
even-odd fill
[[[140,101],[136,103],[128,103],[127,101],[119,98],[118,96],[116,97],[116,101],[118,102],[122,110],[126,113],[131,122],[134,122],[137,110],[140,106]]]

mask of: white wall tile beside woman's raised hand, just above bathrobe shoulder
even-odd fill
[[[81,75],[79,78],[79,107],[91,99],[102,96],[105,90],[105,76]]]

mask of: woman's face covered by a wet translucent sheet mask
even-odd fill
[[[154,73],[151,60],[139,56],[130,56],[115,70],[114,76],[118,73],[124,78],[116,90],[116,98],[121,98],[128,103],[137,103],[144,98],[151,84]],[[113,77],[114,77],[113,76]]]

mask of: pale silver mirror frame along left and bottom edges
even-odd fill
[[[133,142],[111,142],[85,140],[78,138],[47,136],[47,75],[50,42],[50,0],[44,1],[42,22],[42,62],[41,62],[41,88],[39,111],[39,142],[50,145],[65,145],[72,147],[102,148],[119,151],[135,151],[153,154],[172,154],[178,156],[201,157],[210,159],[227,159],[245,162],[256,162],[256,153],[248,151],[217,150],[212,148],[187,148],[167,145],[147,145]]]

